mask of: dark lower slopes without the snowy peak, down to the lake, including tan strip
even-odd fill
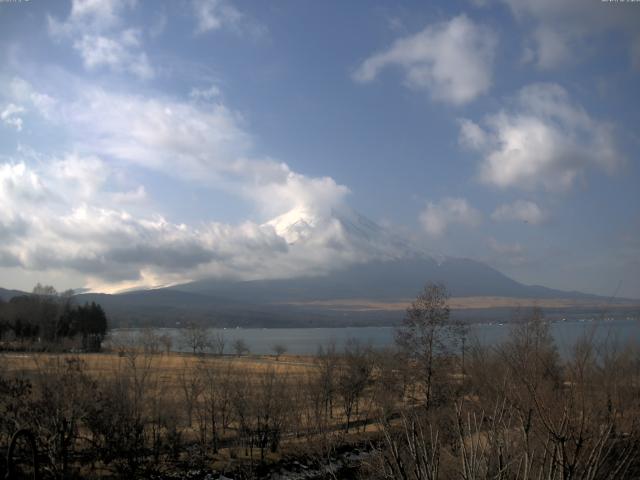
[[[548,315],[557,317],[597,316],[609,303],[595,295],[523,285],[473,260],[439,262],[425,256],[352,265],[317,277],[202,280],[119,295],[81,294],[77,300],[100,303],[116,325],[176,326],[190,321],[225,327],[391,325],[402,319],[402,305],[428,281],[444,283],[457,298],[478,297],[470,306],[454,309],[454,315],[465,321],[508,320],[513,306],[492,300],[495,297],[513,298],[515,304],[528,299],[529,305],[539,300]],[[637,303],[618,301],[615,309],[634,314]]]

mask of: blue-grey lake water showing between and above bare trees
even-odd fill
[[[509,335],[509,324],[475,324],[469,326],[468,338],[477,339],[483,345],[497,345]],[[317,352],[318,347],[335,343],[342,350],[349,339],[384,348],[393,345],[395,327],[344,327],[344,328],[211,328],[211,334],[222,334],[226,341],[225,353],[233,353],[232,344],[242,339],[254,354],[272,354],[273,346],[284,345],[288,353],[306,355]],[[172,350],[189,351],[183,344],[180,329],[156,329],[158,334],[168,334],[172,338]],[[629,342],[640,342],[640,320],[582,320],[559,321],[551,323],[551,332],[560,354],[571,354],[576,341],[583,335],[593,332],[596,341],[607,340],[624,346]],[[115,329],[111,337],[115,342],[124,339],[135,340],[141,329]]]

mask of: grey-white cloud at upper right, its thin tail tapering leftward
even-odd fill
[[[385,68],[397,66],[408,87],[461,105],[489,90],[496,44],[496,35],[489,28],[460,15],[396,40],[362,62],[353,79],[370,82]]]

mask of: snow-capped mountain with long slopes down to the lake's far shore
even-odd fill
[[[253,280],[200,279],[117,295],[83,294],[121,322],[167,326],[200,321],[224,326],[393,324],[427,282],[443,283],[454,312],[469,321],[503,318],[539,304],[567,316],[593,312],[608,299],[524,285],[481,262],[437,255],[346,207],[293,209],[264,224],[304,265],[291,275]],[[281,271],[278,271],[281,272]],[[637,302],[620,300],[621,308]],[[627,311],[625,310],[625,311]]]

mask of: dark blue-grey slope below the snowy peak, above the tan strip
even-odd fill
[[[430,257],[370,262],[318,277],[248,282],[203,280],[170,290],[254,303],[346,298],[393,301],[414,298],[426,282],[444,283],[455,297],[598,298],[580,292],[523,285],[483,263],[451,257],[442,262]]]

